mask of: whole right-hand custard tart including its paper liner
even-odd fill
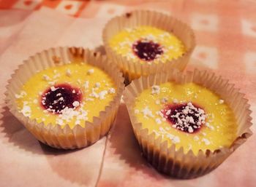
[[[141,77],[124,101],[143,155],[174,178],[205,175],[252,135],[244,95],[207,71]]]

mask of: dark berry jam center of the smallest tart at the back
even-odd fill
[[[160,44],[142,39],[132,44],[132,50],[140,59],[151,61],[164,52]]]

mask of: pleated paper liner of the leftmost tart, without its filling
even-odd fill
[[[29,117],[18,112],[15,94],[20,92],[23,84],[31,76],[45,68],[64,65],[78,59],[108,73],[117,87],[115,98],[108,106],[105,106],[105,111],[100,111],[99,116],[94,116],[93,122],[86,122],[85,127],[75,125],[74,128],[70,128],[68,124],[64,127],[59,124],[43,124],[43,122],[38,124],[35,119],[29,119]],[[54,148],[74,149],[95,143],[110,130],[116,117],[123,90],[124,78],[118,67],[108,62],[107,57],[82,47],[58,47],[37,53],[18,67],[8,83],[6,102],[10,112],[37,140]]]

